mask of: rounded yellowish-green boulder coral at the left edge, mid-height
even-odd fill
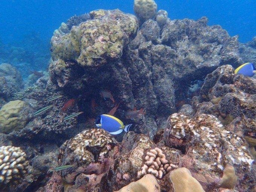
[[[21,100],[10,101],[0,109],[0,132],[21,130],[27,123],[29,104]]]

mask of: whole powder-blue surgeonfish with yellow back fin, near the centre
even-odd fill
[[[117,119],[111,115],[102,114],[96,118],[95,125],[98,128],[102,128],[105,131],[108,131],[110,134],[117,135],[122,133],[123,130],[125,130],[125,132],[129,131],[129,128],[132,124],[125,126],[120,119]]]

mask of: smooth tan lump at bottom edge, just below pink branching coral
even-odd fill
[[[153,175],[147,174],[144,177],[142,177],[140,180],[132,182],[116,192],[126,192],[126,191],[160,192],[160,186]]]

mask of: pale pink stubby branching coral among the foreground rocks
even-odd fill
[[[145,162],[141,170],[138,171],[138,177],[152,174],[161,179],[163,175],[169,172],[172,168],[178,168],[178,166],[168,163],[163,151],[156,147],[146,153]]]

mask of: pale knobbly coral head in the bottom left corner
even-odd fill
[[[19,147],[0,147],[0,187],[18,184],[29,171],[26,153]]]

